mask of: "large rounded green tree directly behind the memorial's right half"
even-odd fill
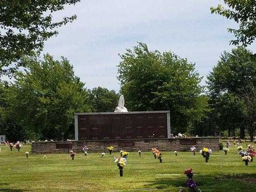
[[[139,43],[120,55],[121,93],[130,111],[171,110],[171,128],[185,132],[204,111],[195,64],[172,52],[149,51]]]

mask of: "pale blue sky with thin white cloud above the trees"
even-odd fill
[[[45,43],[43,53],[70,60],[86,88],[119,92],[118,54],[143,42],[150,50],[171,50],[195,63],[205,85],[220,54],[234,48],[229,42],[234,36],[227,28],[238,28],[234,21],[210,13],[210,7],[219,3],[223,1],[81,0],[53,14],[54,21],[73,14],[77,20],[61,26],[59,35]],[[248,48],[256,52],[256,43]]]

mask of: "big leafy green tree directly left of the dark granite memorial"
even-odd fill
[[[53,60],[47,54],[44,60],[24,62],[28,67],[15,74],[14,84],[7,89],[9,116],[41,139],[66,139],[73,130],[74,113],[89,111],[85,84],[74,76],[65,58]]]

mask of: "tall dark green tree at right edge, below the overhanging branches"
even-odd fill
[[[231,53],[224,51],[207,77],[212,107],[219,114],[216,122],[228,129],[245,128],[251,139],[256,130],[255,72],[256,55],[238,47]]]

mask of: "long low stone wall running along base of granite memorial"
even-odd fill
[[[196,151],[203,147],[219,151],[219,137],[214,138],[175,138],[175,139],[134,139],[134,140],[98,140],[98,141],[62,141],[62,142],[34,142],[32,152],[35,154],[69,153],[70,150],[82,152],[84,146],[88,152],[108,152],[107,147],[113,146],[114,152],[126,151],[150,151],[152,147],[160,151],[190,151],[195,146]]]

